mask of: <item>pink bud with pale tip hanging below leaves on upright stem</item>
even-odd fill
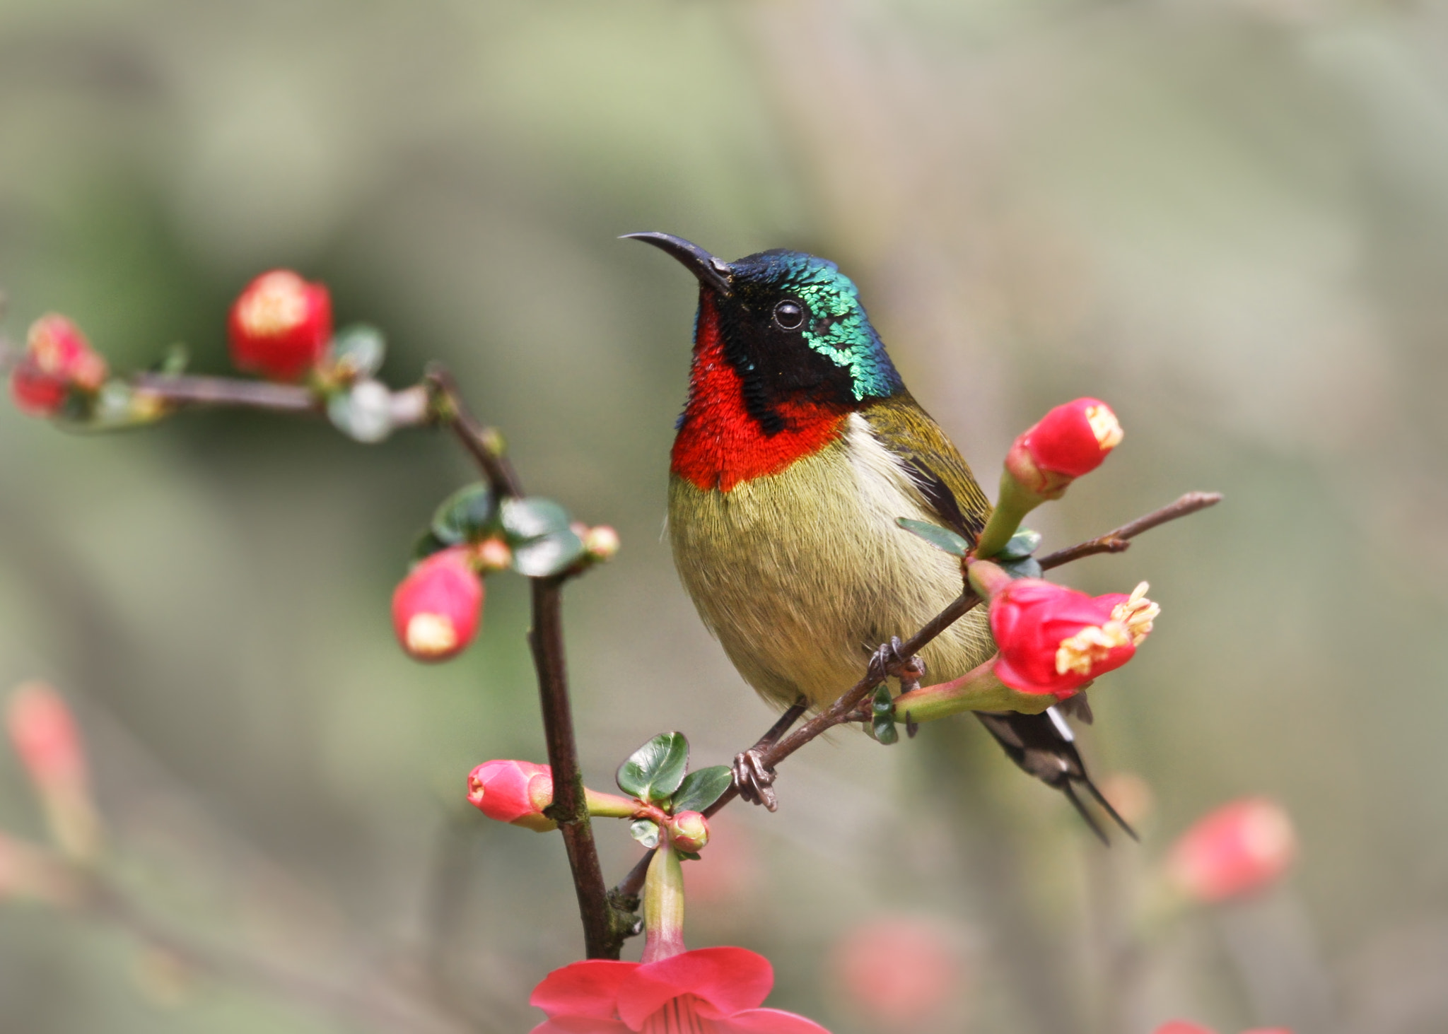
[[[433,553],[392,592],[392,629],[414,660],[446,660],[462,653],[478,631],[482,579],[466,546]]]

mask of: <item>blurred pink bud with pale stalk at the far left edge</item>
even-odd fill
[[[100,820],[90,795],[85,752],[65,699],[43,682],[26,682],[6,711],[10,741],[20,757],[56,843],[72,857],[93,857]]]

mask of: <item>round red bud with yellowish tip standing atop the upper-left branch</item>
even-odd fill
[[[274,381],[295,381],[326,355],[332,340],[332,295],[291,269],[272,269],[246,285],[232,304],[227,330],[232,362]]]

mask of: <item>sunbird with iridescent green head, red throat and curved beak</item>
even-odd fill
[[[689,397],[669,479],[669,540],[683,587],[744,681],[766,699],[824,707],[889,662],[961,591],[960,563],[896,524],[975,542],[990,504],[970,466],[911,397],[833,264],[791,251],[724,262],[682,238],[631,233],[699,282]],[[880,649],[876,649],[880,647]],[[977,607],[925,646],[933,681],[995,652]],[[888,665],[898,673],[901,660]],[[1060,715],[982,721],[1027,772],[1099,798]],[[744,796],[773,804],[757,755]]]

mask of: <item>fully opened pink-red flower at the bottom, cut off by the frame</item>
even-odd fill
[[[769,960],[740,947],[575,962],[533,989],[529,1001],[547,1014],[533,1034],[828,1034],[794,1012],[759,1008],[773,983]]]

